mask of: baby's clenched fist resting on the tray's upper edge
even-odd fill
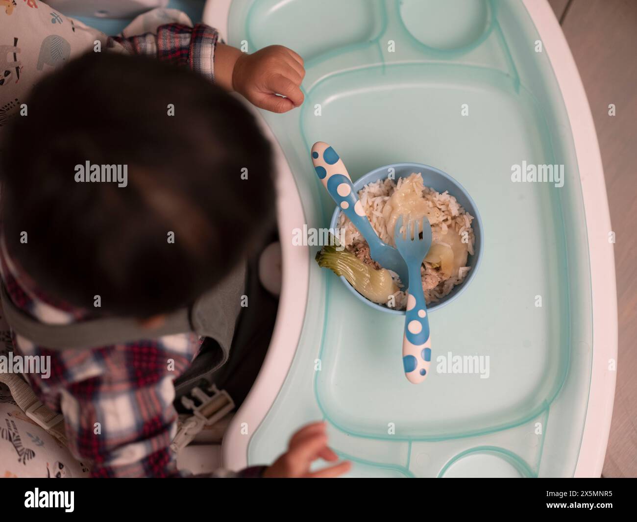
[[[303,58],[282,45],[271,45],[253,54],[241,53],[234,64],[234,91],[262,109],[287,112],[303,103]],[[281,94],[285,96],[276,96]]]

